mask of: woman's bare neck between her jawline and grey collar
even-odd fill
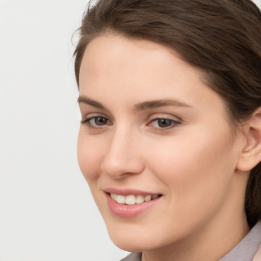
[[[179,241],[161,249],[143,251],[142,261],[219,260],[250,231],[245,214],[244,195],[245,187],[234,182],[219,213],[207,223],[198,225]]]

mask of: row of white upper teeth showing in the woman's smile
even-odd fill
[[[111,193],[112,199],[117,201],[120,204],[127,204],[127,205],[134,205],[134,204],[140,204],[143,203],[144,201],[150,201],[151,199],[155,199],[160,197],[160,195],[117,195],[115,193]]]

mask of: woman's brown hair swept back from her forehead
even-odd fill
[[[200,68],[233,126],[261,106],[261,13],[250,0],[99,0],[83,17],[74,51],[78,86],[87,44],[107,33],[164,44]],[[261,219],[260,164],[246,189],[251,227]]]

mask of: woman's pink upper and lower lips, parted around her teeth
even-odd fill
[[[110,191],[110,192],[109,192]],[[155,205],[162,197],[155,198],[150,201],[144,201],[143,203],[127,205],[120,204],[111,198],[110,193],[115,193],[118,195],[155,195],[156,193],[138,191],[138,190],[118,190],[118,189],[109,189],[105,190],[107,203],[111,212],[121,218],[134,218],[142,213],[144,213],[148,208]]]

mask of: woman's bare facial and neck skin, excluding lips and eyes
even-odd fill
[[[249,232],[249,171],[238,167],[245,134],[232,133],[222,98],[200,71],[161,44],[99,36],[83,57],[80,97],[82,121],[107,119],[81,124],[77,153],[118,247],[142,251],[146,261],[214,261]],[[166,99],[177,102],[137,110]],[[157,119],[171,125],[160,127]],[[162,197],[142,214],[121,218],[108,207],[108,187]]]

